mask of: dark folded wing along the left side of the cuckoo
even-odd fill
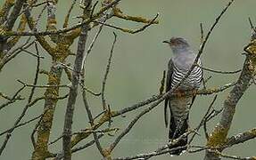
[[[167,77],[166,77],[166,92],[169,92],[169,90],[171,89],[171,76],[173,73],[173,62],[170,59],[169,63],[168,63],[168,72],[167,72]],[[169,103],[169,99],[165,99],[164,100],[164,123],[165,126],[168,127],[168,122],[169,122],[169,113],[168,113],[168,103]]]

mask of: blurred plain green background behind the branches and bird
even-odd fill
[[[215,18],[227,4],[227,0],[130,0],[121,1],[120,8],[123,12],[130,15],[141,15],[146,18],[160,12],[160,24],[147,28],[144,32],[129,35],[120,31],[115,31],[118,35],[118,42],[114,50],[111,73],[106,86],[106,100],[112,109],[120,109],[131,106],[140,100],[145,100],[153,94],[158,93],[162,71],[167,68],[167,63],[172,53],[169,47],[161,42],[169,39],[171,36],[183,36],[189,41],[196,52],[200,44],[200,27],[202,22],[205,34],[215,21]],[[1,4],[4,0],[1,1]],[[206,68],[215,68],[218,70],[235,70],[241,68],[244,62],[243,47],[250,40],[251,29],[248,17],[256,21],[255,0],[235,1],[228,9],[227,13],[220,20],[219,25],[214,29],[209,43],[206,45],[202,54],[202,63]],[[70,1],[60,0],[57,9],[58,25],[61,28],[63,15],[67,12]],[[75,10],[72,16],[80,15],[80,10]],[[45,16],[45,14],[44,14]],[[76,20],[73,19],[75,22]],[[125,28],[139,28],[141,24],[128,22],[124,20],[112,19],[109,23],[116,24]],[[40,23],[40,28],[45,28],[44,20]],[[89,34],[89,42],[95,35],[96,29]],[[93,52],[87,59],[87,87],[95,92],[101,91],[101,83],[107,63],[107,58],[111,49],[113,39],[111,28],[103,28],[99,41],[97,41]],[[73,45],[72,51],[76,52],[77,43]],[[51,60],[45,51],[41,50],[41,55],[45,56],[41,68],[49,70]],[[73,58],[68,60],[73,63]],[[36,59],[28,54],[21,53],[5,66],[0,73],[0,90],[8,95],[12,95],[21,84],[16,79],[21,79],[27,83],[33,82],[35,73]],[[234,82],[239,75],[219,75],[204,72],[204,76],[212,76],[207,86],[219,86]],[[46,77],[40,76],[39,84],[45,84]],[[68,84],[67,77],[62,76],[62,84]],[[61,95],[68,90],[62,89]],[[28,95],[29,89],[22,92],[24,96]],[[37,96],[42,95],[44,89],[37,89]],[[255,86],[245,92],[244,97],[239,101],[234,122],[231,126],[229,135],[238,132],[244,132],[255,127]],[[223,100],[227,97],[227,91],[219,93],[215,108],[221,108]],[[211,102],[211,96],[198,96],[190,114],[191,127],[197,126],[201,121],[203,114]],[[89,105],[93,114],[97,115],[101,110],[101,100],[88,94]],[[1,100],[2,102],[2,100]],[[51,140],[56,139],[62,134],[63,117],[67,100],[60,100],[54,116],[54,126]],[[12,106],[4,108],[0,112],[0,132],[10,128],[14,120],[20,115],[26,100],[14,103]],[[254,105],[253,105],[254,104]],[[37,116],[42,112],[44,102],[37,103],[37,106],[29,108],[29,112],[24,120]],[[123,129],[130,120],[139,113],[136,110],[126,115],[113,119],[113,126]],[[212,130],[217,124],[219,117],[209,123],[208,129]],[[76,110],[73,121],[73,131],[85,129],[88,126],[87,113],[83,106],[81,96],[78,95]],[[30,133],[35,123],[29,124],[21,129],[16,129],[12,133],[12,138],[4,150],[2,160],[29,159],[32,152],[30,142]],[[203,132],[197,136],[194,145],[204,145],[205,138]],[[131,132],[121,140],[119,146],[114,150],[114,157],[133,156],[139,153],[151,152],[155,148],[164,145],[168,140],[168,132],[163,123],[163,104],[153,109],[152,112],[141,118],[134,126]],[[92,137],[90,137],[90,140]],[[0,138],[0,142],[4,137]],[[104,136],[101,139],[103,145],[113,140],[111,137]],[[86,143],[82,141],[80,144]],[[62,149],[62,140],[51,146],[51,151],[58,152]],[[225,153],[236,156],[255,156],[256,141],[251,140],[233,148],[228,148]],[[204,152],[195,154],[184,154],[182,156],[157,156],[152,159],[202,159]],[[73,155],[73,159],[101,159],[101,156],[95,146],[87,148]]]

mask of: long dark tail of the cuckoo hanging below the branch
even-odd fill
[[[175,140],[178,137],[180,137],[182,134],[187,132],[188,129],[188,119],[183,124],[180,124],[181,126],[178,126],[175,124],[174,117],[170,116],[169,119],[169,141]],[[169,152],[170,155],[180,155],[183,150],[186,150],[186,148],[180,148],[184,147],[187,144],[187,136],[183,137],[181,140],[178,141],[178,143],[171,145],[169,148],[178,148],[174,151]]]

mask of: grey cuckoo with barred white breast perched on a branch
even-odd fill
[[[169,60],[166,92],[169,92],[176,84],[186,76],[187,72],[194,64],[196,54],[182,37],[172,37],[168,41],[163,41],[169,44],[173,52],[173,57]],[[198,60],[198,65],[201,66],[201,60]],[[166,99],[164,103],[164,119],[165,125],[169,127],[169,140],[175,140],[188,130],[188,115],[189,109],[194,102],[195,96],[181,96],[182,92],[193,91],[200,87],[202,82],[202,68],[194,67],[186,80],[178,86],[175,92],[178,95],[172,99]],[[169,108],[169,109],[168,109]],[[169,117],[170,116],[170,117]],[[169,124],[169,125],[168,125]],[[187,144],[187,136],[179,140],[176,145],[170,148],[184,147]],[[180,148],[173,152],[171,155],[180,155],[186,148]]]

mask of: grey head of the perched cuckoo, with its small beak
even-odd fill
[[[186,42],[186,39],[183,37],[171,37],[169,40],[163,41],[162,43],[169,44],[174,53],[184,52],[190,48],[189,44]]]

